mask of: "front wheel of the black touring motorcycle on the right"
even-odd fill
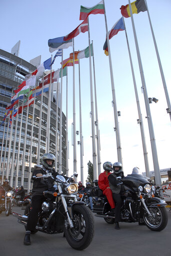
[[[144,215],[143,220],[145,225],[152,231],[161,231],[165,228],[168,221],[168,215],[165,207],[148,207],[151,216]]]

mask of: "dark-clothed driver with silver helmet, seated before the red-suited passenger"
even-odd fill
[[[113,200],[115,202],[115,229],[119,228],[119,220],[120,220],[120,206],[121,206],[121,196],[120,193],[122,191],[122,186],[117,185],[119,181],[116,179],[118,176],[121,178],[124,177],[122,171],[122,164],[120,162],[113,163],[113,173],[108,176],[108,182],[110,189],[112,191]]]

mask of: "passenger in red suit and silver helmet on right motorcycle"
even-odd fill
[[[107,200],[111,207],[111,213],[114,214],[115,204],[114,204],[112,192],[111,192],[111,189],[110,189],[109,183],[108,183],[108,175],[111,174],[112,163],[104,162],[103,169],[104,169],[104,171],[102,173],[100,173],[100,175],[98,176],[98,186],[102,190],[103,194],[107,197]]]

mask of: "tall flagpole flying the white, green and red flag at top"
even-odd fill
[[[104,0],[103,0],[103,3],[104,3]],[[108,29],[107,29],[107,20],[106,20],[106,14],[105,14],[105,6],[104,6],[104,19],[105,19],[106,39],[107,39],[107,46],[108,46],[108,60],[109,60],[109,67],[110,67],[112,104],[113,104],[114,123],[115,123],[114,131],[116,132],[116,145],[117,145],[117,159],[118,159],[118,162],[122,163],[120,131],[119,131],[119,125],[118,125],[118,118],[117,118],[116,97],[115,97],[115,89],[114,89],[114,79],[113,79],[113,70],[112,70],[112,63],[111,63],[110,45],[109,45],[109,39],[108,39]]]

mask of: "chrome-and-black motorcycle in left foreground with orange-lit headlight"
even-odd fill
[[[72,178],[63,175],[52,177],[51,173],[43,175],[43,178],[49,177],[56,182],[56,190],[43,192],[44,201],[38,214],[36,231],[48,234],[64,232],[68,244],[74,249],[82,250],[90,244],[94,235],[92,212],[84,202],[77,201],[77,184]],[[12,214],[18,218],[19,223],[26,226],[26,215],[17,212]]]

